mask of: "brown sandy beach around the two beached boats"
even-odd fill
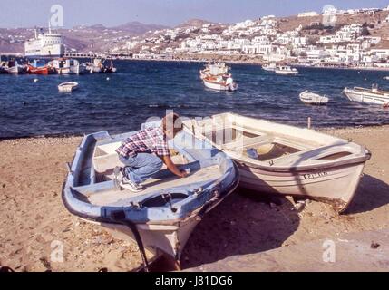
[[[240,189],[193,232],[182,256],[183,268],[388,228],[389,126],[326,132],[351,138],[373,153],[344,215],[319,202],[298,208],[292,198],[253,197]],[[72,161],[80,141],[81,137],[0,141],[0,266],[16,271],[131,271],[141,265],[136,246],[74,218],[63,207],[65,162]],[[53,260],[52,247],[61,249],[58,245],[63,245],[63,261]]]

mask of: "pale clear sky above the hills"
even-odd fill
[[[378,7],[389,0],[0,0],[0,27],[47,26],[52,5],[63,5],[63,22],[115,26],[131,21],[174,26],[190,18],[236,23],[267,14],[287,16],[304,11]]]

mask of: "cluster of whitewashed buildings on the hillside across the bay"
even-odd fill
[[[376,14],[384,14],[386,17],[370,23],[342,25],[338,22],[327,24],[327,27],[323,23],[326,18],[331,21],[331,18],[345,15],[374,19]],[[381,29],[389,31],[389,7],[331,10],[327,14],[306,12],[298,14],[295,23],[306,19],[308,22],[311,19],[318,21],[309,22],[307,26],[299,24],[294,29],[282,31],[280,26],[286,20],[267,15],[258,20],[246,20],[231,25],[206,23],[200,27],[157,30],[149,32],[146,38],[133,37],[125,45],[114,47],[112,52],[138,50],[133,57],[140,59],[174,59],[177,55],[185,55],[188,59],[193,55],[208,55],[211,58],[245,56],[248,61],[259,58],[263,62],[389,68],[389,34],[371,33],[372,30]],[[326,29],[333,34],[309,34]]]

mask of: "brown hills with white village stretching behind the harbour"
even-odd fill
[[[143,26],[142,26],[143,25]],[[0,29],[0,53],[23,52],[33,29]],[[131,23],[61,29],[68,53],[158,60],[224,60],[388,67],[389,6],[267,15],[237,24],[191,20],[175,28]],[[30,36],[29,36],[30,35]]]

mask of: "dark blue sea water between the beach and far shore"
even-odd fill
[[[204,63],[115,62],[119,73],[88,75],[0,75],[0,138],[82,134],[108,130],[133,131],[166,110],[188,117],[226,111],[270,121],[314,127],[389,123],[389,110],[349,102],[345,86],[389,89],[385,72],[300,68],[298,76],[279,76],[258,65],[230,64],[237,92],[204,87]],[[107,81],[107,77],[110,78]],[[34,82],[34,79],[39,82]],[[61,82],[79,82],[72,93],[58,92]],[[326,94],[327,106],[309,106],[298,99],[305,90]]]

